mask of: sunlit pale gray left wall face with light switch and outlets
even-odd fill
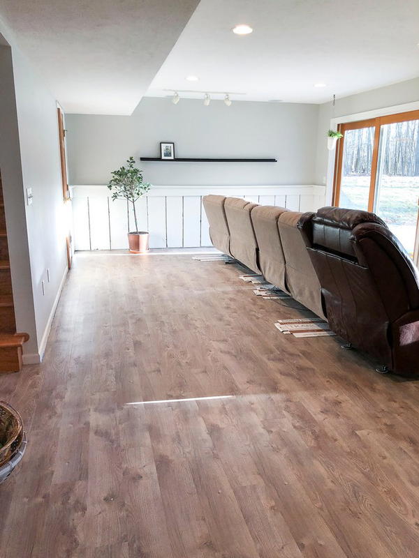
[[[12,52],[23,186],[34,195],[26,216],[39,348],[67,267],[57,103],[20,52]]]

